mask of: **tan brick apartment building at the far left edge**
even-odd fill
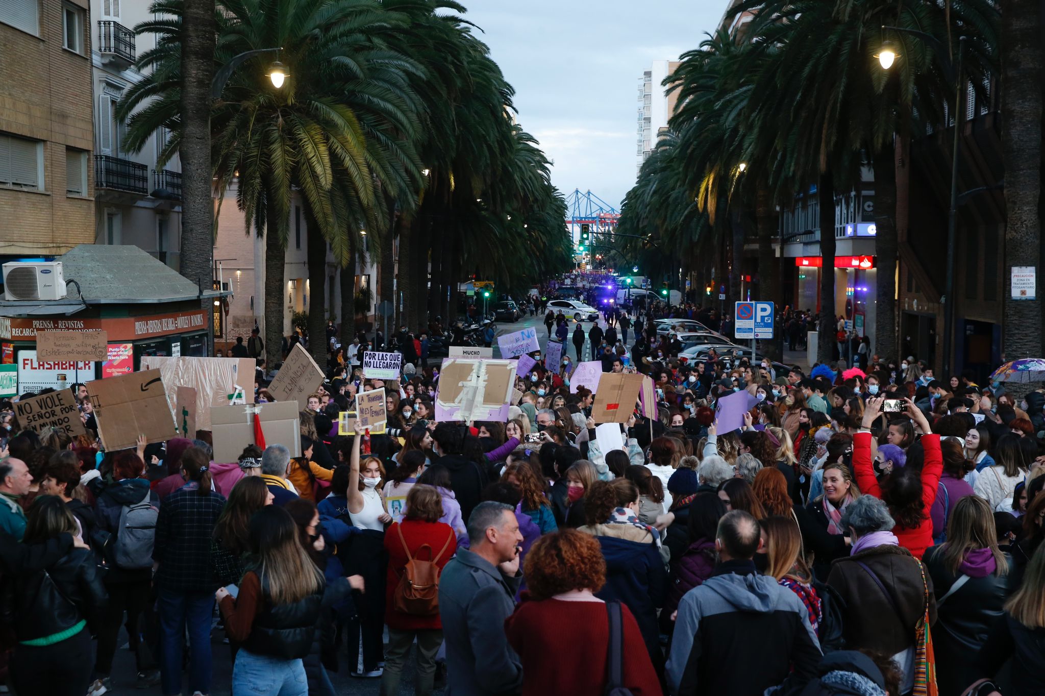
[[[0,259],[94,240],[86,0],[0,0]]]

